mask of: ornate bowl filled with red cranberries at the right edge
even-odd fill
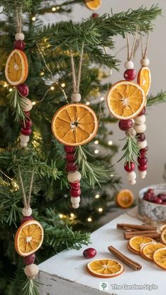
[[[139,217],[146,223],[166,223],[166,184],[140,190]]]

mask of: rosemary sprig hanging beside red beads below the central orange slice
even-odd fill
[[[110,173],[110,171],[102,169],[99,165],[96,166],[89,163],[87,160],[87,155],[94,157],[94,155],[91,155],[89,152],[87,152],[84,147],[77,147],[75,151],[75,157],[76,162],[79,164],[79,166],[81,166],[82,177],[89,179],[89,184],[92,188],[94,188],[96,183],[101,186],[100,181],[108,179],[108,173]]]

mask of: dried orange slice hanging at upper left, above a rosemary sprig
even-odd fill
[[[9,84],[17,86],[27,79],[28,63],[27,56],[23,51],[15,49],[8,56],[5,67],[6,80]]]

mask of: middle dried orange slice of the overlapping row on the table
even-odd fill
[[[153,254],[161,248],[165,248],[165,245],[160,243],[148,243],[141,248],[141,256],[146,260],[153,261]]]

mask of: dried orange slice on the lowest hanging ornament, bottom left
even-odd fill
[[[15,234],[15,250],[20,256],[36,252],[43,242],[44,230],[38,221],[26,221]]]

